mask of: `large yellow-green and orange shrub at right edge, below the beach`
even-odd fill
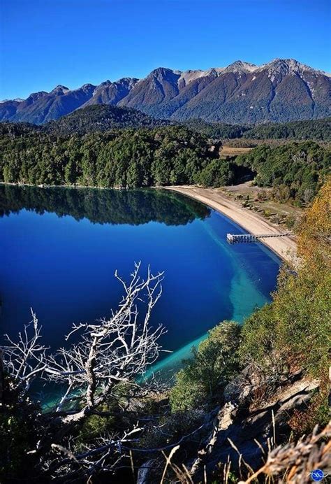
[[[325,380],[330,320],[330,198],[326,185],[298,234],[297,273],[283,269],[271,304],[244,322],[240,357],[265,371],[302,369]]]

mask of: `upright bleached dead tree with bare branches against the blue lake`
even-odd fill
[[[149,318],[161,296],[163,273],[154,276],[148,268],[144,280],[139,269],[140,264],[135,264],[128,284],[115,273],[124,296],[109,320],[75,325],[66,339],[80,333],[78,343],[46,359],[43,377],[66,385],[56,409],[64,415],[64,422],[77,422],[91,414],[116,385],[133,383],[159,356],[159,337],[164,329],[161,325],[152,328]],[[144,302],[145,311],[138,310]]]

